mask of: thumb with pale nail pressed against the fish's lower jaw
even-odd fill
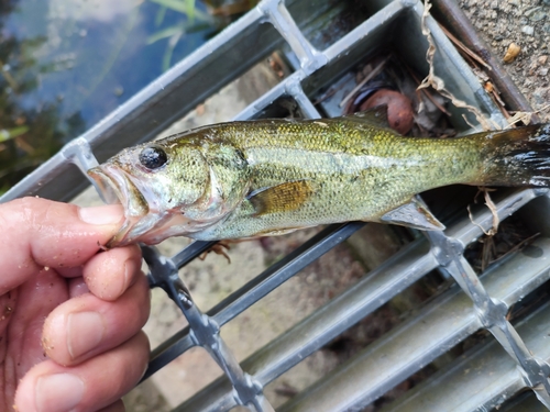
[[[86,263],[122,224],[120,204],[79,208],[24,198],[0,204],[0,294],[44,267]]]

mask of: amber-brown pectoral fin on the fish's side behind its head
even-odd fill
[[[288,181],[266,189],[255,190],[248,199],[255,216],[267,213],[289,212],[298,209],[314,193],[308,180]]]

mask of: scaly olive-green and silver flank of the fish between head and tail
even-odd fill
[[[314,186],[314,194],[292,213],[258,216],[245,200],[226,221],[195,237],[248,237],[272,227],[376,221],[415,193],[473,181],[479,172],[479,142],[397,137],[391,131],[373,133],[356,127],[353,121],[323,123],[327,125],[310,122],[300,129],[299,123],[251,122],[245,125],[248,135],[234,133],[232,125],[220,129],[220,134],[229,136],[226,140],[253,159],[252,190],[307,180]],[[255,133],[255,127],[262,133]],[[336,156],[341,162],[331,162]],[[462,162],[455,162],[460,157]]]

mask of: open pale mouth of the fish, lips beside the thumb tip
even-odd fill
[[[150,211],[140,189],[124,170],[117,167],[98,166],[88,170],[88,176],[106,203],[120,203],[124,208],[124,223],[106,246],[123,246],[134,242],[144,233],[143,219]]]

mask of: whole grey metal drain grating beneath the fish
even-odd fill
[[[316,18],[330,9],[331,2],[288,1],[285,5],[280,0],[262,1],[205,47],[65,146],[1,201],[28,194],[70,199],[86,186],[84,174],[70,172],[73,165],[85,171],[97,164],[97,158],[102,162],[122,147],[153,138],[276,48],[287,52],[295,71],[235,120],[265,116],[273,102],[280,98],[292,98],[304,116],[320,118],[312,96],[327,85],[349,80],[345,74],[350,68],[389,43],[407,64],[427,73],[425,52],[428,44],[420,30],[422,4],[414,0],[371,3],[372,14],[364,22],[321,49],[312,46],[308,35],[316,30]],[[427,25],[438,46],[435,69],[448,89],[503,124],[499,111],[437,23],[429,18]],[[254,51],[254,55],[251,56],[250,51]],[[323,103],[322,110],[327,115],[339,114],[339,109],[330,102]],[[454,126],[465,130],[460,114],[468,113],[457,110],[453,114],[458,114],[453,119],[459,119]],[[542,305],[516,326],[507,320],[512,305],[550,278],[550,238],[547,237],[550,230],[543,223],[548,218],[548,204],[546,190],[531,189],[508,193],[496,202],[501,220],[530,208],[527,220],[542,226],[542,236],[531,245],[537,253],[516,253],[477,277],[463,253],[483,234],[482,227],[487,230],[492,225],[492,214],[480,211],[473,215],[477,224],[466,218],[457,221],[444,233],[427,233],[417,238],[241,364],[220,337],[220,327],[345,241],[364,223],[327,227],[207,313],[194,303],[178,277],[178,269],[211,243],[195,242],[170,258],[154,247],[144,247],[151,286],[163,288],[189,323],[152,353],[145,379],[184,352],[200,345],[222,368],[224,378],[179,405],[177,411],[228,411],[235,405],[273,411],[263,394],[268,382],[429,271],[439,269],[452,276],[458,286],[278,410],[359,411],[480,329],[490,331],[494,338],[410,390],[389,409],[492,410],[526,388],[532,389],[539,401],[537,404],[550,409],[550,366],[547,363],[550,346],[546,344],[550,308]],[[507,355],[501,356],[501,353]],[[475,379],[464,378],[464,371],[472,368],[477,370]],[[517,408],[509,407],[510,410]]]

